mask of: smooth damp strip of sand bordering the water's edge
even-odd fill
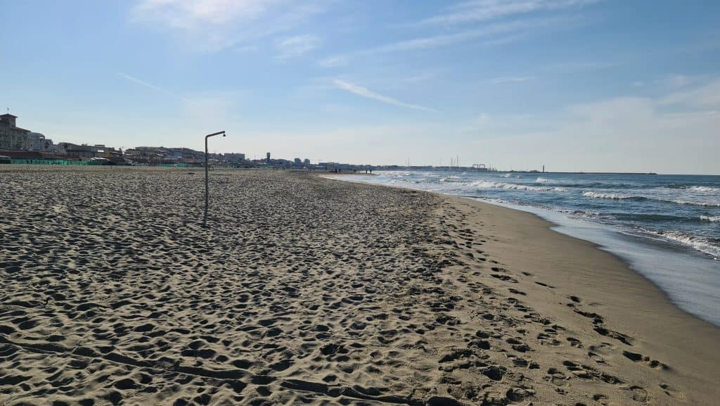
[[[341,176],[328,178],[342,180],[343,182],[357,182],[359,184],[368,185],[366,182],[343,180]],[[390,189],[395,190],[414,190],[404,187],[395,187],[392,185],[371,185],[389,187]],[[584,314],[584,317],[593,319],[593,326],[599,327],[598,330],[606,329],[606,327],[600,327],[603,323],[595,323],[598,320],[598,317],[600,317],[600,319],[605,318],[600,316],[598,312],[611,314],[611,317],[608,317],[608,319],[612,320],[613,325],[617,326],[615,328],[617,328],[618,331],[635,332],[638,336],[632,337],[631,335],[626,335],[622,332],[608,330],[609,335],[606,335],[606,337],[616,335],[616,340],[617,337],[621,337],[621,346],[626,347],[623,351],[632,353],[633,351],[644,350],[647,348],[647,351],[656,354],[655,356],[658,358],[674,360],[676,365],[678,365],[675,368],[682,370],[683,374],[685,374],[685,378],[687,379],[685,384],[687,384],[688,387],[693,387],[697,392],[703,392],[703,390],[699,389],[697,381],[704,380],[704,373],[714,374],[714,378],[708,379],[704,382],[704,384],[707,385],[705,389],[712,387],[714,385],[713,382],[720,379],[720,371],[716,368],[716,365],[720,364],[720,356],[714,350],[716,343],[720,342],[720,328],[673,303],[667,292],[662,290],[657,283],[654,283],[654,281],[647,278],[647,276],[631,268],[631,264],[629,260],[626,260],[626,258],[621,257],[614,252],[603,250],[603,246],[595,242],[573,237],[570,234],[562,233],[562,231],[557,231],[554,228],[562,227],[561,224],[543,219],[541,216],[536,213],[532,213],[531,211],[522,211],[517,208],[509,208],[464,196],[446,195],[427,190],[418,190],[418,192],[437,195],[440,198],[454,202],[454,204],[458,206],[477,206],[479,211],[492,212],[491,217],[501,215],[508,219],[503,222],[503,224],[505,226],[508,224],[515,226],[515,232],[519,236],[527,237],[527,229],[528,227],[532,227],[535,230],[531,231],[529,234],[533,234],[534,238],[530,239],[529,242],[537,242],[537,240],[553,241],[553,243],[545,246],[554,247],[553,250],[549,251],[546,249],[536,249],[534,251],[534,255],[537,256],[532,259],[528,258],[527,251],[523,251],[524,255],[520,259],[506,252],[519,247],[505,247],[505,250],[499,250],[497,252],[491,251],[490,249],[487,249],[486,251],[487,253],[492,252],[491,256],[502,258],[503,260],[500,262],[511,264],[510,266],[513,268],[546,268],[546,271],[542,273],[542,276],[553,281],[554,284],[551,285],[552,289],[559,288],[563,284],[567,285],[568,281],[571,281],[572,278],[577,278],[577,275],[575,275],[572,270],[567,269],[563,260],[560,260],[557,257],[554,258],[553,256],[557,256],[559,255],[559,252],[563,252],[566,260],[567,257],[575,258],[575,270],[582,270],[585,272],[582,284],[574,283],[571,284],[569,288],[566,286],[567,293],[565,297],[554,298],[556,300],[563,300],[561,306],[557,306],[555,309],[553,309],[553,306],[543,306],[546,312],[567,320],[567,311],[570,309],[570,311],[580,314],[581,316]],[[530,224],[530,226],[527,224]],[[498,231],[498,234],[502,232],[503,231]],[[505,230],[505,232],[507,231]],[[515,237],[518,237],[518,235]],[[563,246],[569,249],[560,250],[557,245],[554,245],[558,242],[562,242],[564,244]],[[528,240],[523,238],[523,243],[527,244]],[[493,244],[492,242],[488,242],[487,245],[491,246]],[[578,250],[578,248],[582,249]],[[575,252],[568,255],[568,251]],[[582,252],[582,254],[577,254],[577,251]],[[588,266],[588,264],[583,263],[583,260],[577,259],[578,256],[582,257],[582,255],[598,258],[598,262],[602,265],[601,268],[603,268],[603,272],[599,275],[593,273],[593,265]],[[558,270],[561,270],[561,272],[558,272]],[[532,277],[534,278],[535,275],[538,274],[533,273]],[[623,283],[603,281],[603,277],[617,278],[617,280],[623,281]],[[521,281],[521,278],[518,278],[517,276],[513,278],[516,279],[516,281]],[[528,288],[527,284],[525,285],[525,288]],[[541,288],[544,288],[544,286],[541,286]],[[534,290],[537,290],[537,288]],[[620,291],[621,294],[618,294],[618,291]],[[574,296],[577,299],[585,296],[585,299],[580,299],[580,302],[575,301],[574,299],[568,301],[567,299],[570,298],[570,296]],[[588,300],[588,297],[591,299]],[[633,297],[636,297],[637,299],[633,299]],[[585,304],[585,301],[590,301],[590,304]],[[538,301],[533,301],[532,303],[535,306],[539,305]],[[558,302],[558,304],[559,303],[560,302]],[[585,305],[583,307],[590,309],[580,309],[581,303]],[[629,314],[629,309],[638,312],[641,316]],[[563,316],[563,314],[565,315]],[[590,317],[590,315],[594,315],[596,317]],[[670,323],[664,324],[664,322],[653,320],[655,317],[657,317],[657,320],[666,318],[670,321]],[[698,337],[693,338],[688,337],[688,335],[697,335]],[[662,337],[662,339],[659,339],[659,337]],[[622,343],[623,340],[627,340],[629,343],[633,344],[626,345],[625,343]],[[613,340],[610,339],[608,341]],[[697,347],[698,345],[699,347]],[[628,356],[625,356],[625,358],[628,358]],[[656,365],[653,368],[657,368],[657,363],[662,363],[661,361],[654,360],[652,357],[646,355],[639,356],[639,358],[640,363],[644,362]],[[645,358],[648,359],[646,360]],[[672,361],[665,362],[670,363]],[[704,372],[698,373],[698,371],[696,371],[698,369],[698,363],[704,365],[704,368],[700,369]],[[667,369],[670,368],[670,366],[667,367]],[[662,366],[660,369],[662,369]],[[663,384],[658,384],[658,386],[660,385]],[[703,384],[700,384],[700,386],[703,386]],[[711,389],[708,394],[711,396],[707,397],[705,402],[698,402],[698,404],[710,404],[710,400],[720,395],[720,389]],[[670,394],[668,394],[668,396],[670,396]],[[657,400],[657,403],[654,404],[661,405],[665,403],[662,403],[662,400]]]

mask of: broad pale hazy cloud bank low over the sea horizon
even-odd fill
[[[716,174],[715,94],[720,80],[687,92],[614,97],[525,118],[479,115],[469,120],[467,132],[488,156],[526,168]]]

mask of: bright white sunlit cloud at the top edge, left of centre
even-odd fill
[[[204,51],[246,48],[252,40],[286,32],[324,12],[329,0],[140,0],[132,19]]]

